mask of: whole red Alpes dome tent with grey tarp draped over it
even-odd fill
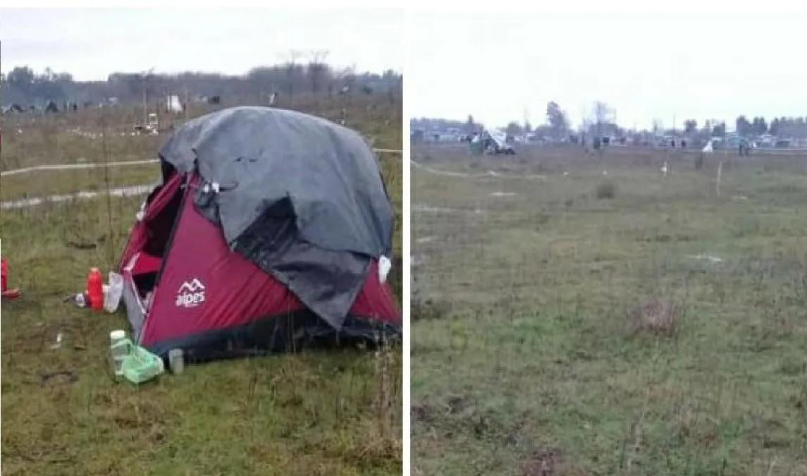
[[[400,335],[391,203],[356,132],[237,107],[185,123],[158,156],[163,183],[120,261],[138,344],[204,361]]]

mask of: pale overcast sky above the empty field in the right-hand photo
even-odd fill
[[[623,127],[807,115],[807,16],[416,14],[405,94],[414,117],[574,124],[601,100]],[[729,10],[726,10],[729,11]]]

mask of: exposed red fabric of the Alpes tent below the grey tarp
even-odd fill
[[[164,158],[163,169],[164,183],[144,203],[120,262],[129,320],[145,348],[162,356],[184,349],[193,361],[399,333],[399,309],[378,272],[386,258],[367,261],[363,285],[334,325],[268,266],[228,245],[222,225],[194,199],[207,184],[198,168],[183,172]]]

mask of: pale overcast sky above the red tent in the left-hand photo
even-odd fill
[[[359,71],[403,71],[403,15],[391,10],[0,10],[2,65],[106,80],[115,71],[243,74],[328,50]]]

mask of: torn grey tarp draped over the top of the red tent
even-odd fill
[[[295,111],[236,107],[193,119],[160,150],[199,170],[194,202],[230,247],[341,328],[373,259],[390,257],[392,207],[356,132]]]

